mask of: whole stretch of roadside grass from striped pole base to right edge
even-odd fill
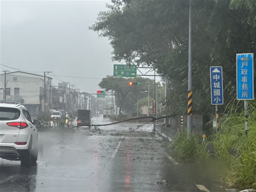
[[[169,146],[179,162],[205,161],[218,158],[227,167],[222,179],[228,187],[256,189],[256,101],[248,101],[249,132],[245,134],[244,102],[233,100],[220,119],[220,131],[202,141],[200,136],[187,138],[177,133]]]

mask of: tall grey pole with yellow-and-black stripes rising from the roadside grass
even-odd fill
[[[188,139],[191,138],[193,133],[193,113],[192,113],[192,34],[191,34],[191,17],[192,8],[189,0],[189,29],[188,29]]]

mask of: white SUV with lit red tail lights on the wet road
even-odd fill
[[[37,130],[40,121],[31,117],[21,104],[0,103],[0,157],[20,161],[21,167],[30,167],[37,160]]]

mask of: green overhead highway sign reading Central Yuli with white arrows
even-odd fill
[[[114,65],[114,77],[136,77],[137,65]]]

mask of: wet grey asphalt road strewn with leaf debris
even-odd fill
[[[30,169],[0,160],[0,191],[201,191],[196,184],[225,191],[204,166],[173,164],[166,156],[169,141],[152,133],[152,125],[131,132],[136,126],[39,132],[38,160]],[[162,180],[168,184],[156,183]]]

